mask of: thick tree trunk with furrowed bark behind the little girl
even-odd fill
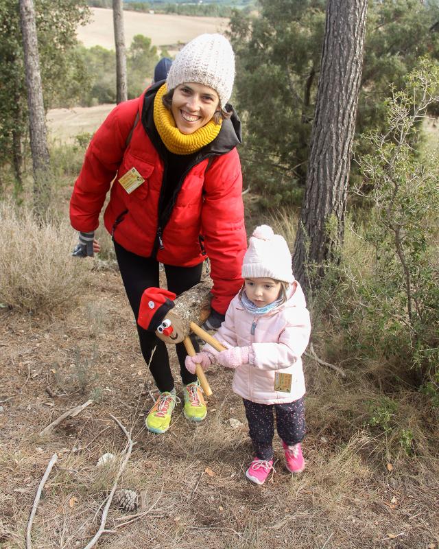
[[[294,275],[309,294],[339,257],[363,62],[367,0],[328,0]]]

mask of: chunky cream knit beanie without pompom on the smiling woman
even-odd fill
[[[222,34],[200,34],[183,47],[167,75],[167,89],[184,82],[198,82],[213,88],[224,108],[232,95],[235,55]]]

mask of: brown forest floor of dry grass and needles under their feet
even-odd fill
[[[111,532],[99,548],[438,547],[438,471],[417,459],[390,467],[376,458],[366,431],[348,439],[337,432],[319,409],[322,386],[340,384],[333,373],[305,359],[305,473],[287,472],[276,437],[276,473],[254,486],[244,475],[252,451],[230,373],[209,373],[213,396],[205,421],[189,423],[180,405],[166,434],[147,432],[154,388],[119,273],[96,270],[91,287],[78,294],[78,301],[51,316],[0,309],[1,548],[25,547],[34,495],[53,454],[58,461],[38,505],[33,547],[88,544],[115,478],[114,467],[96,467],[97,460],[106,452],[120,456],[126,447],[109,414],[136,443],[118,487],[137,491],[138,512],[145,514],[124,524],[128,514],[111,506]],[[173,367],[179,391],[175,359]],[[38,435],[90,396],[94,404]]]

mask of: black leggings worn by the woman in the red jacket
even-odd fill
[[[115,244],[115,252],[117,263],[125,291],[130,301],[134,318],[137,321],[139,316],[140,301],[143,292],[146,288],[158,288],[158,261],[150,257],[141,257],[132,252],[128,252],[122,248],[120,244]],[[185,290],[189,290],[195,284],[200,282],[202,272],[202,263],[195,267],[174,267],[165,265],[165,274],[167,280],[167,289],[174,294],[181,294]],[[152,377],[159,390],[172,390],[174,388],[174,378],[172,377],[171,368],[169,367],[169,356],[167,354],[166,344],[159,340],[156,334],[152,331],[147,331],[137,325],[139,334],[140,348],[146,364],[150,365]],[[199,351],[200,347],[193,341],[195,351]],[[156,347],[151,358],[151,353]],[[180,375],[182,382],[195,382],[197,377],[187,371],[185,368],[185,358],[187,352],[184,344],[176,344],[178,362],[180,362]]]

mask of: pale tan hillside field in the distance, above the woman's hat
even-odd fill
[[[112,10],[91,8],[90,23],[78,27],[78,40],[85,47],[102,46],[115,49]],[[172,46],[187,43],[203,32],[224,32],[228,19],[223,17],[191,17],[173,14],[150,14],[143,12],[123,12],[125,42],[128,47],[133,36],[143,34],[151,38],[153,46]],[[169,47],[170,46],[170,47]]]

